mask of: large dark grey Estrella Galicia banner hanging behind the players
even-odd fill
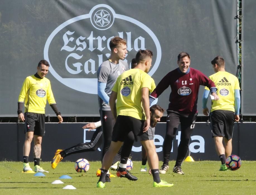
[[[3,0],[0,7],[0,116],[17,115],[15,102],[22,83],[35,74],[43,58],[50,63],[46,77],[62,115],[99,116],[96,72],[110,56],[109,42],[114,36],[127,40],[128,64],[138,50],[153,51],[149,75],[156,85],[178,67],[182,51],[190,54],[190,66],[207,76],[213,73],[210,62],[217,55],[226,60],[228,72],[236,72],[235,1],[12,2]],[[202,91],[203,87],[199,96]],[[190,92],[187,86],[179,94]],[[167,108],[169,94],[166,89],[158,104]],[[55,115],[49,105],[46,114]]]

